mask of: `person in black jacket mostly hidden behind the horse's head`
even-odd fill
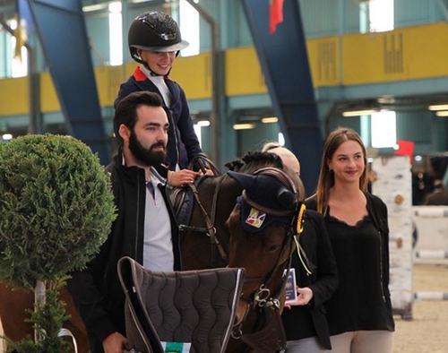
[[[294,153],[275,142],[266,143],[263,151],[280,156],[283,164],[300,176],[300,163]],[[289,303],[281,314],[286,352],[326,352],[332,346],[323,303],[337,288],[338,273],[322,215],[306,210],[303,231],[296,240],[291,267],[296,270],[297,301]]]

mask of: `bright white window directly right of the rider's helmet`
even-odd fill
[[[197,0],[194,0],[197,3]],[[181,56],[196,56],[199,54],[199,13],[185,0],[179,3],[179,28],[182,39],[190,45],[181,50]]]

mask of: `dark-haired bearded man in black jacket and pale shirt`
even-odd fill
[[[99,254],[86,269],[71,273],[67,285],[86,326],[91,353],[125,350],[125,294],[116,270],[121,257],[130,256],[152,271],[180,270],[177,222],[166,181],[154,168],[166,158],[168,129],[157,93],[131,93],[116,107],[119,150],[107,170],[117,218]]]

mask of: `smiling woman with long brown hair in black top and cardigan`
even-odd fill
[[[336,129],[323,147],[316,193],[306,201],[323,214],[340,276],[325,303],[332,353],[392,353],[387,208],[366,192],[366,161],[358,133]]]

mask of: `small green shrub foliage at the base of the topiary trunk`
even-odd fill
[[[14,342],[6,338],[8,353],[71,353],[73,347],[69,342],[58,337],[69,316],[65,314],[65,303],[58,300],[58,289],[65,285],[65,279],[51,282],[46,290],[46,303],[36,305],[36,310],[29,310],[30,320],[39,340],[30,337]]]

